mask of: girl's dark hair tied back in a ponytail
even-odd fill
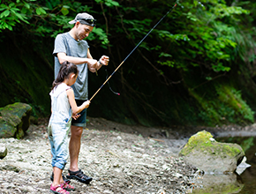
[[[68,61],[65,61],[60,66],[57,77],[52,83],[51,89],[53,89],[55,86],[58,86],[59,84],[63,83],[64,79],[68,78],[70,73],[74,73],[77,76],[79,73],[78,67],[74,63],[69,63]]]

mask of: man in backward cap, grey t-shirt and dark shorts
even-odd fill
[[[102,65],[108,65],[109,56],[102,56],[100,60],[95,60],[90,54],[87,41],[84,39],[93,31],[96,19],[88,13],[79,13],[75,19],[70,21],[74,24],[71,31],[64,34],[58,34],[55,40],[53,55],[55,56],[55,77],[59,71],[61,63],[68,61],[75,63],[79,69],[79,76],[76,83],[72,86],[77,105],[80,106],[88,99],[88,71],[96,72]],[[86,126],[87,109],[79,113],[79,116],[73,116],[71,139],[69,144],[70,151],[70,169],[67,178],[76,179],[81,183],[90,183],[91,177],[84,175],[79,169],[79,149],[80,139],[83,128]],[[51,179],[53,178],[53,175]],[[69,183],[63,175],[64,181]]]

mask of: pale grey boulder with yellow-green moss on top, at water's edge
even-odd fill
[[[220,143],[207,131],[193,135],[179,156],[206,174],[233,173],[245,157],[237,144]]]

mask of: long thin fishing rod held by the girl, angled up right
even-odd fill
[[[162,17],[162,19],[164,19],[164,18],[169,14],[169,12],[172,11],[172,10],[176,7],[176,5],[177,5],[177,4],[175,4],[172,8],[170,8],[169,11],[167,11],[167,13]],[[136,50],[136,48],[139,47],[139,45],[141,44],[141,42],[144,41],[144,40],[147,38],[147,36],[154,30],[154,28],[155,28],[156,26],[158,26],[158,24],[162,21],[162,19],[160,19],[160,20],[154,25],[154,27],[152,27],[151,30],[146,34],[146,36],[144,36],[144,38],[143,38],[141,41],[139,41],[139,44],[137,44],[137,46],[132,49],[132,52],[131,52],[128,56],[126,56],[126,57],[124,58],[124,61],[119,64],[119,66],[117,67],[117,69],[112,72],[112,74],[109,76],[109,78],[111,78],[111,77],[114,75],[114,73],[119,69],[119,67],[121,67],[121,65],[126,61],[126,59],[127,59],[129,56],[132,55],[133,51]],[[106,81],[102,84],[102,86],[104,86],[104,85],[109,81],[109,78],[106,79]],[[92,98],[90,99],[90,101],[92,101],[93,98],[94,98],[94,96],[95,96],[97,93],[100,92],[100,90],[102,89],[102,86],[96,91],[96,93],[94,93],[94,95],[92,96]],[[117,94],[120,95],[120,93],[117,93]]]

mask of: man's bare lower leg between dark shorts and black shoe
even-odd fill
[[[83,133],[83,128],[79,126],[73,126],[71,128],[71,140],[70,140],[70,170],[71,171],[78,171],[79,170],[79,152],[81,146],[81,137]]]

